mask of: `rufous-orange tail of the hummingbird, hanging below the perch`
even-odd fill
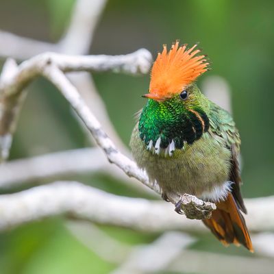
[[[216,203],[216,210],[212,212],[211,219],[204,219],[203,223],[210,228],[212,233],[227,246],[243,245],[253,252],[252,242],[245,225],[245,219],[231,193],[225,201]]]

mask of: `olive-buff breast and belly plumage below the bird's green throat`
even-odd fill
[[[184,142],[182,149],[169,154],[166,149],[149,149],[136,125],[130,145],[138,166],[166,192],[201,195],[229,177],[231,153],[210,131],[192,144]]]

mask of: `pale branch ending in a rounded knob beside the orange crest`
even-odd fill
[[[81,64],[81,62],[83,63]],[[105,62],[108,64],[104,64]],[[8,156],[16,118],[23,99],[25,99],[26,94],[23,92],[23,88],[34,77],[41,75],[49,64],[55,64],[63,71],[111,70],[125,73],[147,73],[151,65],[151,54],[146,49],[119,56],[71,56],[44,53],[23,62],[20,66],[16,66],[14,60],[8,59],[3,66],[0,79],[0,151],[2,159]]]

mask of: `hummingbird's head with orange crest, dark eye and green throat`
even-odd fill
[[[148,149],[182,149],[208,130],[208,99],[195,80],[208,71],[205,55],[197,45],[179,47],[179,42],[158,53],[151,69],[148,98],[139,120],[140,138]],[[174,149],[173,149],[174,150]],[[171,154],[171,153],[169,153]]]

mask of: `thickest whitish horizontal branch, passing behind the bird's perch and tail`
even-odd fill
[[[245,202],[250,231],[274,231],[274,197]],[[145,232],[208,232],[201,221],[176,214],[171,203],[121,197],[77,182],[55,182],[0,196],[0,230],[59,214]]]

